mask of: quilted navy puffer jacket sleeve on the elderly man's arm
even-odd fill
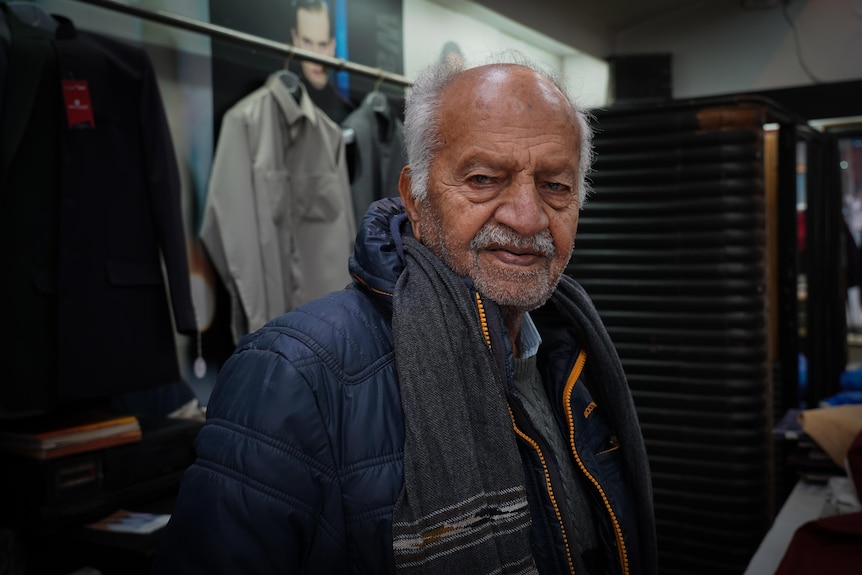
[[[316,358],[264,329],[225,364],[154,574],[348,571],[343,526],[325,519],[343,512]]]

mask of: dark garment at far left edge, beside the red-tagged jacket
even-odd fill
[[[53,34],[0,5],[7,47],[0,116],[0,410],[38,409],[57,381],[59,126],[62,111]]]

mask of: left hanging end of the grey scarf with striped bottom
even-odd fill
[[[536,573],[502,366],[464,281],[403,240],[392,320],[406,428],[393,511],[397,571]]]

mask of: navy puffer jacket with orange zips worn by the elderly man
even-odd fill
[[[375,204],[350,260],[356,281],[240,342],[210,398],[198,458],[183,478],[154,574],[394,573],[404,426],[390,319],[407,230],[400,201]],[[576,420],[582,470],[597,483],[593,499],[611,572],[654,573],[643,446],[634,457],[640,469],[624,469],[629,457],[581,393],[585,387],[564,389],[584,365],[571,330],[552,309],[531,315],[543,340],[557,342],[543,344],[540,364],[546,381],[571,395],[560,417]],[[561,492],[559,479],[517,405],[513,414],[537,565],[542,573],[571,573],[570,521],[548,494],[554,485]],[[613,486],[622,476],[636,477],[631,491]]]

